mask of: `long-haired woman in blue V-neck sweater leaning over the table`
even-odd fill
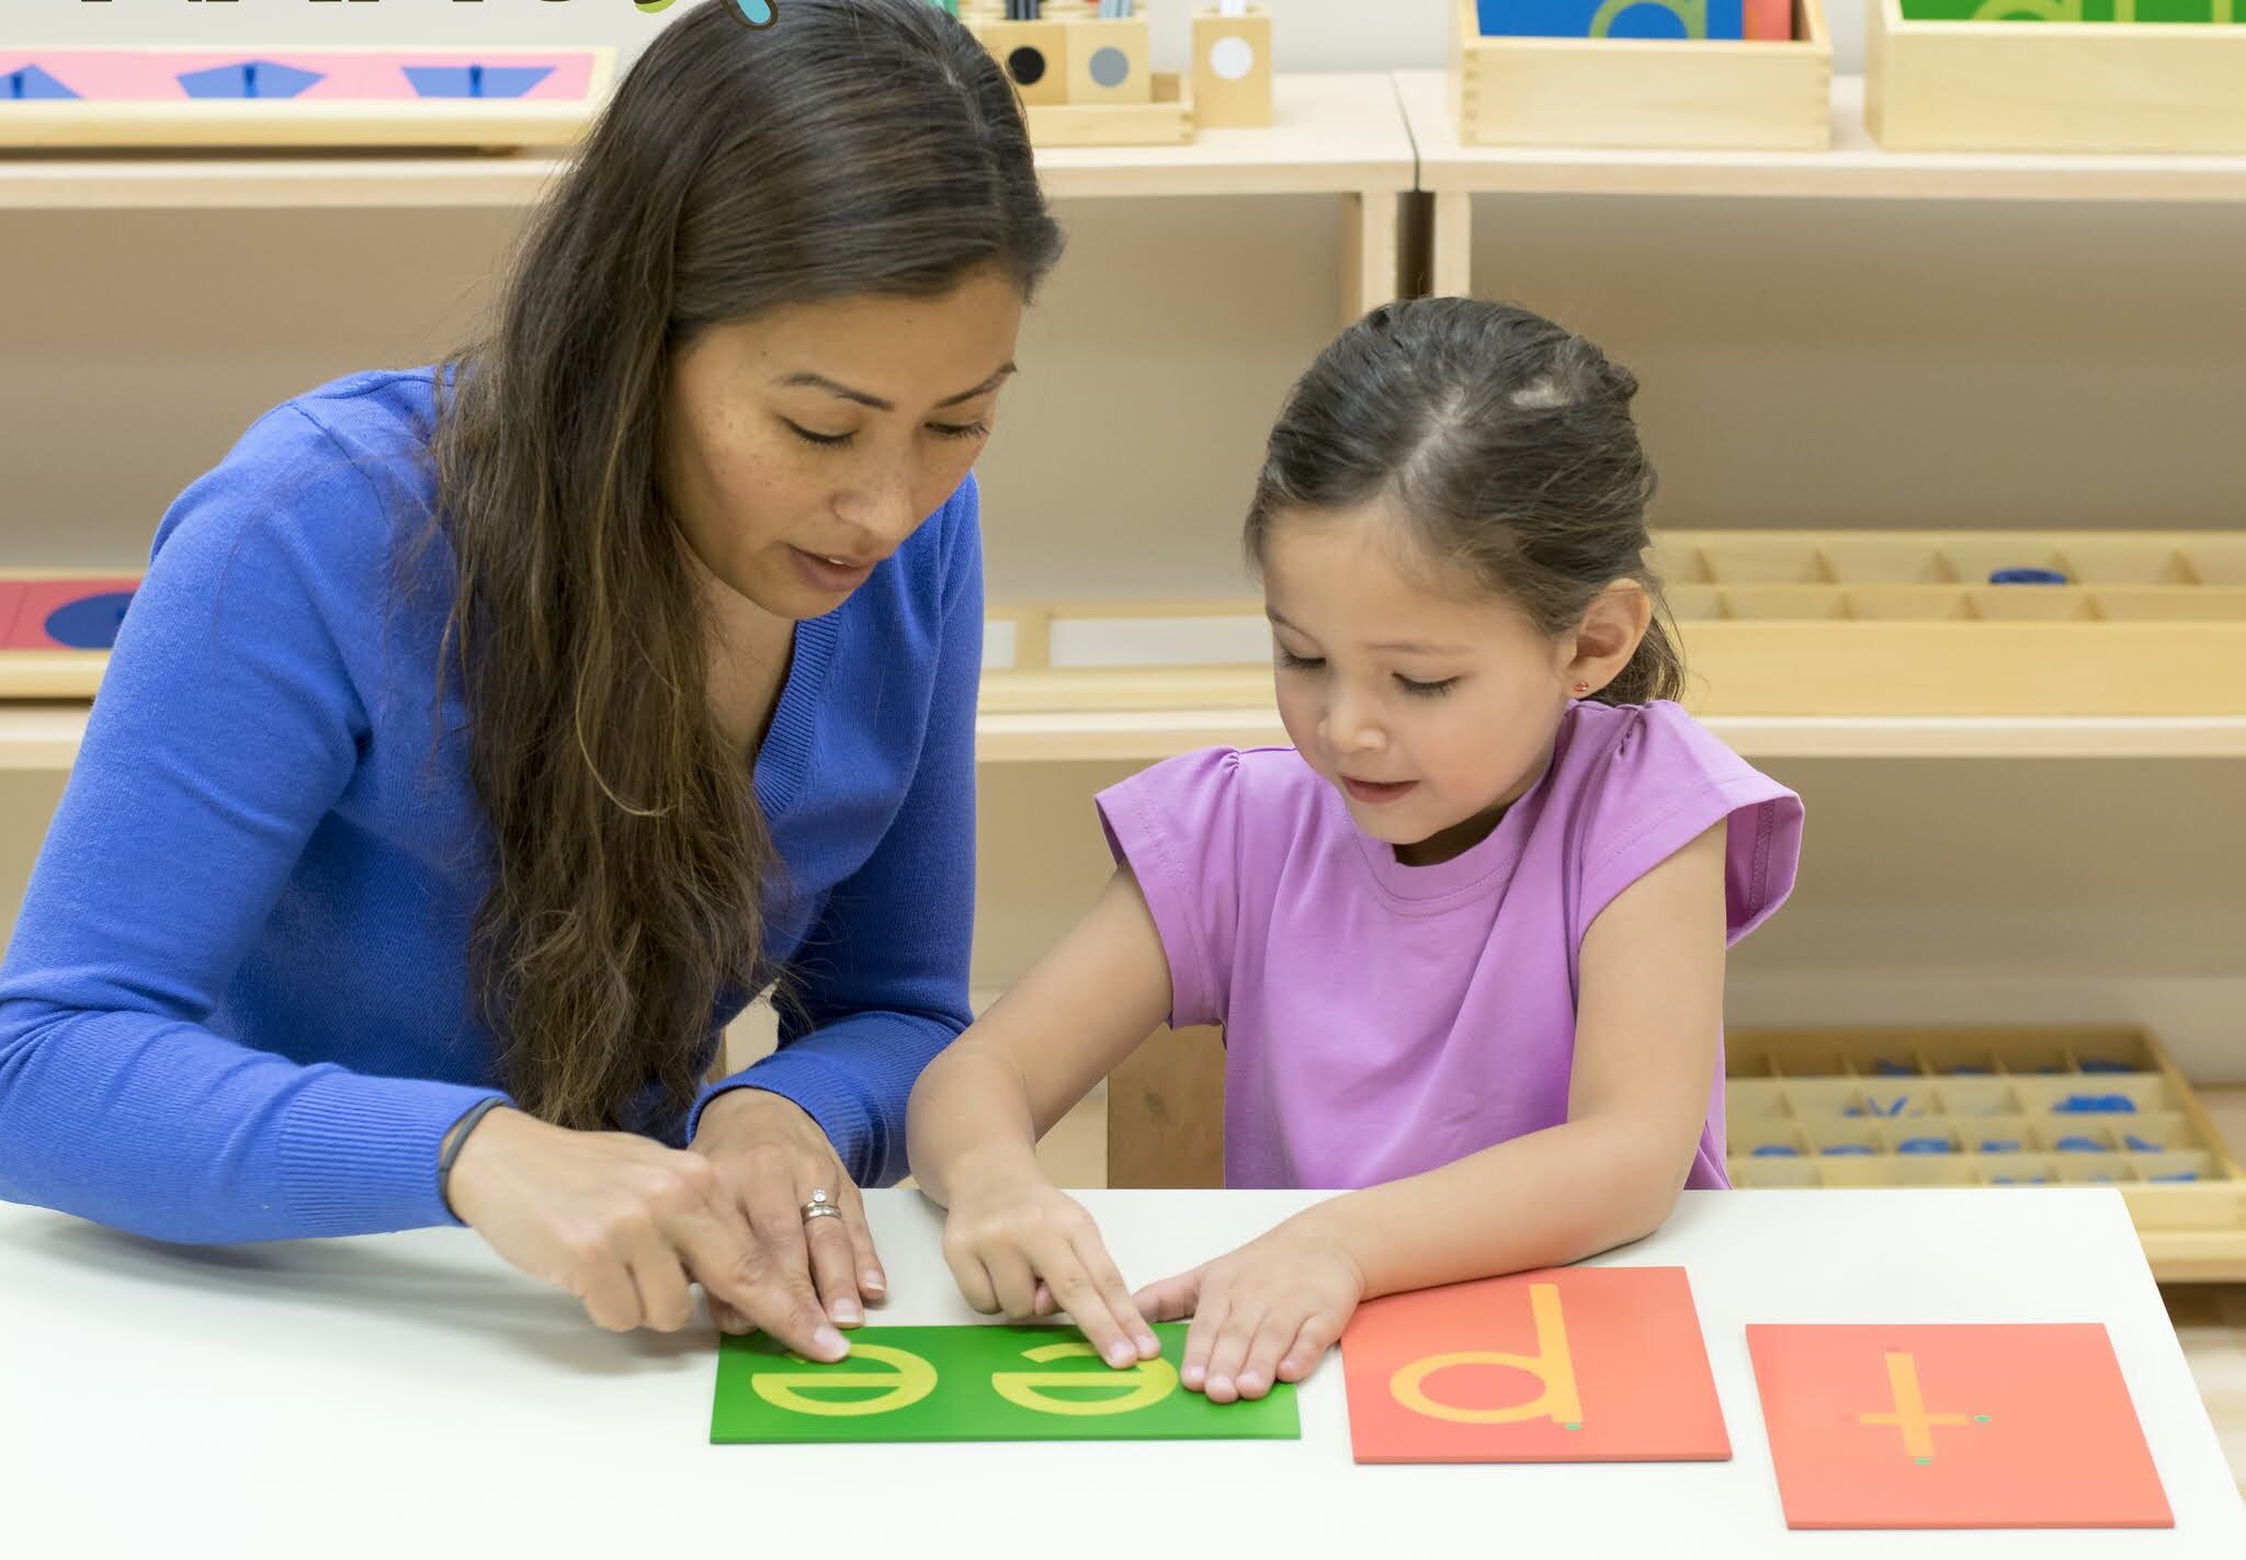
[[[856,1185],[968,1021],[968,467],[1058,251],[941,11],[667,27],[485,339],[164,516],[0,970],[0,1196],[463,1221],[602,1327],[699,1282],[844,1353]]]

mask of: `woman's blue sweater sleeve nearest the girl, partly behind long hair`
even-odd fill
[[[928,736],[905,801],[880,844],[836,887],[806,947],[820,958],[797,990],[802,1015],[779,1048],[719,1080],[800,1104],[858,1185],[905,1174],[912,1084],[970,1021],[975,940],[975,703],[982,689],[982,532],[977,489],[961,487],[943,570],[943,640]]]

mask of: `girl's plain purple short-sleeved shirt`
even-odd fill
[[[1224,1026],[1224,1181],[1361,1187],[1568,1120],[1577,952],[1617,893],[1729,819],[1729,940],[1795,884],[1801,799],[1671,703],[1570,705],[1471,851],[1404,866],[1291,747],[1215,747],[1098,797],[1170,958]],[[1723,1066],[1687,1185],[1723,1187]]]

